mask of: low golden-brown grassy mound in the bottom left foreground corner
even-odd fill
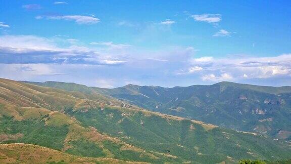
[[[112,158],[87,158],[31,144],[0,145],[0,163],[142,163]]]

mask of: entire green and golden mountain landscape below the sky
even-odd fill
[[[0,78],[0,162],[290,159],[289,89],[233,83],[102,89]],[[248,132],[251,122],[274,130]]]

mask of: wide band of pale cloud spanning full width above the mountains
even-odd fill
[[[280,79],[285,79],[280,85],[287,85],[291,77],[291,54],[275,57],[196,57],[197,50],[193,47],[144,50],[113,42],[95,42],[85,46],[81,40],[62,37],[0,36],[0,76],[27,80],[45,77],[61,81],[70,78],[76,83],[87,84],[90,81],[92,86],[106,86],[106,83],[101,85],[102,80],[97,85],[95,79],[115,79],[108,87],[126,85],[125,79],[140,81],[140,85],[167,87],[213,84],[222,80],[243,83],[261,80],[269,81],[271,85],[273,81],[282,81]],[[121,54],[122,51],[125,53]],[[76,73],[82,78],[76,79]]]

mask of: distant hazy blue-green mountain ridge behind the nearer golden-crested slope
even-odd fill
[[[114,89],[54,81],[32,84],[68,91],[100,93],[151,111],[291,140],[289,86],[255,86],[226,81],[210,86],[163,88],[126,85]]]

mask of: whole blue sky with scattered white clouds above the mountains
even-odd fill
[[[0,0],[0,77],[291,86],[291,2]]]

